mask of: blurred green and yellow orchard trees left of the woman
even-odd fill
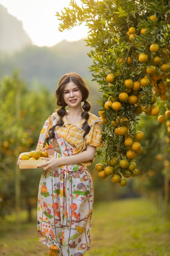
[[[16,162],[22,152],[36,148],[44,121],[54,110],[54,97],[41,87],[30,91],[18,72],[5,76],[0,84],[0,197],[4,215],[15,205],[15,182],[20,179],[22,207],[35,197],[40,173],[22,171],[16,177]],[[34,179],[32,179],[34,177]]]

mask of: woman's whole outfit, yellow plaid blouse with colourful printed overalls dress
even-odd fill
[[[92,124],[91,129],[94,132],[94,127],[97,126],[96,130],[100,133],[99,137],[97,133],[93,134],[93,139],[90,138],[91,144],[103,146],[101,130],[98,127],[100,119],[91,113],[89,114],[88,122]],[[50,126],[56,124],[57,119],[56,113],[47,119],[40,133],[37,149],[43,147],[45,136],[48,136],[47,131]],[[53,145],[54,141],[49,146],[46,144],[49,157],[58,158],[73,155],[76,150],[84,148],[84,144],[87,143],[90,136],[90,134],[89,136],[86,135],[86,141],[85,139],[83,139],[84,141],[77,141],[77,144],[80,144],[78,146],[74,145],[74,139],[74,143],[70,144],[67,135],[73,132],[72,129],[83,134],[84,131],[80,131],[83,122],[71,124],[71,129],[66,117],[63,121],[63,127],[56,127],[54,140],[56,145]],[[62,132],[67,135],[65,136],[63,133],[62,136]],[[76,132],[74,132],[75,136]],[[100,138],[99,141],[95,141],[95,135],[97,139]],[[92,177],[87,169],[90,164],[87,162],[63,165],[54,171],[42,172],[38,191],[38,237],[40,243],[47,245],[49,249],[56,250],[59,256],[82,256],[90,248],[94,200]]]

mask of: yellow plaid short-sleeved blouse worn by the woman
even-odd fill
[[[47,128],[45,138],[48,137],[48,130],[53,126],[54,116],[56,117],[56,122],[60,118],[55,112],[53,113],[53,115],[51,115],[47,119],[45,123],[49,125]],[[99,122],[101,122],[101,119],[99,117],[96,117],[96,115],[89,112],[89,119],[87,120],[87,123],[91,128],[89,133],[85,136],[85,139],[83,138],[83,134],[85,133],[85,130],[82,129],[82,125],[85,119],[77,122],[76,124],[69,123],[66,116],[64,116],[62,119],[64,122],[63,126],[56,126],[55,131],[56,133],[58,133],[58,135],[60,135],[63,139],[65,139],[67,143],[73,146],[74,155],[85,150],[87,145],[91,145],[95,147],[103,147],[103,142],[101,140],[101,128],[99,125]],[[45,128],[43,129],[41,131],[41,134],[45,132]],[[89,161],[81,164],[85,164],[86,166],[89,166],[92,163]]]

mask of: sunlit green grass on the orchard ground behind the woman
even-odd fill
[[[1,221],[0,256],[47,256],[38,242],[36,212],[33,223],[20,215],[20,233],[14,216]],[[85,256],[170,256],[170,220],[142,198],[101,202],[94,205],[92,244]]]

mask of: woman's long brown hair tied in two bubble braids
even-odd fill
[[[84,104],[82,106],[84,111],[81,114],[81,116],[83,118],[85,118],[85,122],[83,123],[83,126],[82,126],[82,129],[85,131],[83,138],[85,138],[85,136],[89,133],[90,126],[88,125],[87,120],[89,119],[88,111],[90,110],[91,105],[88,101],[86,101],[86,99],[89,97],[89,89],[88,89],[85,81],[79,74],[74,73],[74,72],[67,73],[61,77],[61,79],[59,81],[58,88],[56,90],[57,106],[61,107],[57,110],[57,114],[59,115],[60,119],[58,120],[56,125],[54,125],[53,127],[51,127],[49,129],[49,131],[48,131],[49,137],[47,137],[47,139],[46,139],[47,144],[49,144],[49,141],[55,137],[54,130],[55,130],[56,126],[63,126],[63,124],[64,124],[62,117],[64,117],[66,115],[65,107],[67,106],[67,104],[64,101],[63,94],[64,94],[65,85],[67,83],[69,83],[70,81],[72,81],[76,85],[78,85],[78,88],[80,89],[81,94],[82,94],[82,98],[83,98],[82,101],[84,101]]]

